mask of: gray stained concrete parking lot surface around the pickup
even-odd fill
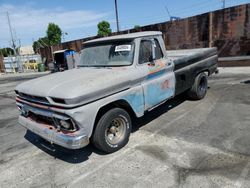
[[[203,100],[182,95],[133,120],[128,145],[109,155],[18,125],[13,89],[26,79],[0,79],[0,187],[250,186],[250,68],[220,69]]]

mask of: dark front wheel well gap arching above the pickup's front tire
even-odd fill
[[[132,107],[130,106],[130,104],[127,101],[118,100],[118,101],[111,102],[111,103],[101,107],[98,110],[96,118],[95,118],[95,124],[94,124],[93,132],[95,130],[96,124],[98,123],[98,121],[102,117],[102,115],[105,112],[107,112],[108,110],[112,109],[112,108],[122,108],[123,110],[125,110],[130,115],[131,119],[136,117],[134,110],[132,109]]]

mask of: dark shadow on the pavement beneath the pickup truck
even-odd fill
[[[147,112],[145,116],[143,116],[142,118],[133,118],[132,121],[134,121],[134,126],[132,132],[135,132],[140,127],[150,123],[155,118],[158,118],[162,114],[180,105],[185,100],[186,100],[185,96],[183,95],[177,96],[176,98],[167,101],[166,103],[160,105],[159,107],[153,109],[152,111]],[[50,142],[44,140],[43,138],[32,133],[29,130],[27,130],[24,138],[33,145],[35,145],[37,148],[46,152],[47,154],[68,163],[74,164],[87,161],[92,153],[105,155],[105,153],[94,148],[92,144],[89,144],[88,146],[77,150],[66,149],[61,146],[51,144]]]

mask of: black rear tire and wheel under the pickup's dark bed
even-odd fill
[[[187,92],[187,95],[194,100],[203,99],[207,93],[207,75],[202,72],[195,78],[194,84]]]

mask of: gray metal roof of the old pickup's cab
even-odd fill
[[[89,40],[87,42],[84,42],[84,44],[107,42],[107,41],[114,41],[114,40],[126,40],[126,39],[134,39],[134,38],[156,36],[156,35],[162,35],[162,32],[160,32],[160,31],[143,31],[143,32],[129,33],[129,34],[93,39],[93,40]]]

